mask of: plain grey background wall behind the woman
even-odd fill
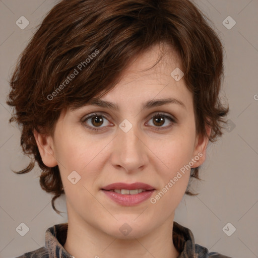
[[[15,62],[36,26],[58,1],[0,1],[0,161],[1,161],[1,239],[0,257],[15,257],[44,245],[48,227],[67,222],[67,213],[57,215],[51,207],[51,195],[39,185],[39,168],[17,175],[11,169],[24,168],[29,159],[23,156],[20,132],[8,124],[10,109],[6,104],[8,80]],[[228,100],[230,124],[222,139],[208,147],[208,157],[201,170],[205,181],[196,183],[197,197],[185,196],[176,210],[175,221],[191,229],[196,242],[210,251],[237,257],[258,257],[258,1],[195,1],[214,22],[225,47],[225,80],[222,97]],[[29,25],[20,29],[16,21],[25,16]],[[231,16],[231,29],[223,21]],[[224,23],[231,26],[231,20]],[[225,24],[226,25],[226,24]],[[54,28],[53,28],[54,29]],[[234,127],[235,126],[235,127]],[[64,198],[56,208],[66,212]],[[21,236],[20,223],[29,227]],[[223,228],[230,222],[236,231],[227,236]],[[227,232],[232,232],[230,225]]]

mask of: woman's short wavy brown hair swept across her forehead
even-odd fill
[[[36,161],[40,185],[54,194],[52,207],[59,214],[54,207],[64,193],[59,169],[42,162],[33,130],[52,135],[63,109],[81,107],[110,91],[132,58],[159,42],[180,56],[183,80],[193,93],[197,133],[207,136],[205,125],[210,125],[209,140],[215,141],[228,107],[219,99],[223,46],[208,21],[188,0],[63,0],[54,6],[20,55],[10,81],[7,103],[14,112],[9,121],[21,125],[21,146],[33,156],[16,173],[31,171]],[[66,81],[79,64],[79,74]],[[200,179],[198,170],[191,169],[190,179]],[[188,187],[185,193],[196,195]]]

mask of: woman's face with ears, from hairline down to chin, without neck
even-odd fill
[[[58,164],[70,221],[117,238],[171,227],[189,167],[204,162],[208,139],[196,135],[192,94],[177,77],[178,70],[172,74],[176,80],[171,76],[180,68],[176,53],[141,72],[155,63],[158,52],[155,45],[138,56],[101,98],[117,109],[87,104],[62,112],[53,138],[44,141],[35,135],[43,162]],[[162,104],[165,99],[171,101]],[[113,183],[136,182],[154,190],[131,191],[136,193],[131,196],[103,190]]]

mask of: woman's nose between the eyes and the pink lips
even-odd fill
[[[143,170],[148,163],[148,148],[137,126],[133,126],[126,133],[120,128],[117,131],[111,154],[112,165],[131,173]]]

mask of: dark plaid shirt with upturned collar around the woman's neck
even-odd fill
[[[16,258],[75,258],[63,248],[67,239],[68,223],[55,224],[45,233],[45,246]],[[173,243],[180,253],[177,258],[232,258],[195,243],[192,232],[174,221]]]

